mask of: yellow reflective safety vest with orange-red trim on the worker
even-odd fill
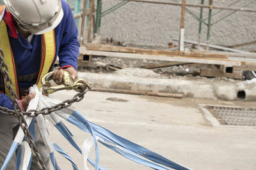
[[[21,97],[20,89],[19,89],[19,81],[16,74],[15,60],[12,53],[12,47],[10,45],[10,40],[8,37],[8,31],[6,29],[6,24],[3,20],[3,15],[5,11],[5,6],[0,6],[0,48],[4,52],[4,62],[8,66],[8,74],[12,79],[13,90],[17,93],[18,97]],[[36,84],[38,88],[42,87],[41,79],[44,74],[49,72],[51,66],[54,62],[54,58],[56,55],[56,45],[55,45],[55,35],[54,30],[49,31],[45,34],[42,34],[42,57],[40,64],[40,71],[37,76]],[[3,81],[2,81],[3,84]],[[2,85],[3,90],[2,93],[9,96],[9,90]]]

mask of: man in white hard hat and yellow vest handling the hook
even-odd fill
[[[68,71],[73,80],[77,78],[77,28],[72,11],[64,0],[4,0],[4,4],[0,8],[0,48],[19,105],[26,110],[29,101],[35,97],[35,93],[26,96],[28,88],[35,83],[41,86],[40,79],[53,69],[57,56],[61,69],[54,72],[53,79],[62,83],[63,70]],[[3,76],[0,90],[0,106],[13,109]],[[12,145],[13,132],[19,127],[17,124],[17,118],[0,114],[0,167]],[[43,155],[47,169],[48,156]],[[16,169],[15,157],[7,169]]]

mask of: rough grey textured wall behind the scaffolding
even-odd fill
[[[164,1],[164,0],[161,0]],[[167,1],[167,0],[165,0]],[[170,1],[170,0],[169,0]],[[214,6],[225,6],[237,0],[215,0]],[[251,0],[242,0],[230,7],[241,8]],[[102,12],[120,3],[116,0],[102,0]],[[172,2],[175,2],[173,0]],[[181,0],[177,1],[181,3]],[[188,4],[200,4],[200,0],[187,0]],[[205,0],[205,4],[209,1]],[[256,1],[245,8],[256,9]],[[200,15],[200,8],[188,7],[196,16]],[[213,14],[220,10],[213,10]],[[204,8],[204,17],[208,17],[209,10]],[[232,11],[223,10],[212,17],[212,23]],[[129,2],[117,10],[102,17],[100,34],[103,38],[113,38],[124,45],[168,47],[172,38],[179,38],[180,6],[164,4],[148,4]],[[205,20],[207,22],[207,20]],[[186,11],[185,39],[198,41],[199,22]],[[201,42],[206,43],[207,26],[203,24]],[[229,46],[256,40],[256,13],[237,11],[211,27],[212,45]],[[177,44],[177,42],[173,42]],[[239,50],[256,50],[256,45],[237,48]]]

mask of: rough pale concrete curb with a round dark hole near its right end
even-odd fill
[[[143,70],[145,76],[138,76],[140,72],[136,73],[136,71],[131,72],[128,70],[126,74],[79,72],[79,77],[88,80],[92,88],[163,92],[183,94],[184,97],[231,101],[256,100],[255,81],[240,81],[227,78],[193,78],[186,76],[176,78],[150,77],[148,74],[151,72],[145,74],[147,69],[138,70]],[[239,92],[244,92],[244,97],[239,97]]]

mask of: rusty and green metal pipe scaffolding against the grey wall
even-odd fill
[[[121,0],[116,0],[116,1],[121,1]],[[93,29],[93,34],[100,34],[100,23],[101,23],[101,19],[102,17],[105,17],[106,15],[108,15],[109,13],[111,13],[112,11],[117,10],[118,8],[124,6],[125,4],[129,3],[129,2],[136,2],[136,3],[151,3],[151,4],[165,4],[165,5],[174,5],[174,6],[182,6],[182,12],[181,12],[181,21],[180,21],[180,35],[179,35],[179,50],[180,51],[184,51],[184,16],[185,16],[185,11],[187,13],[189,13],[189,15],[192,15],[196,20],[198,20],[199,22],[199,28],[198,28],[198,46],[202,45],[202,43],[200,43],[201,41],[201,34],[202,34],[202,25],[207,25],[207,43],[206,43],[206,49],[209,50],[209,42],[210,42],[210,36],[211,36],[211,27],[212,25],[217,24],[218,22],[221,22],[221,20],[224,20],[227,17],[230,17],[230,15],[236,13],[237,11],[243,11],[243,12],[256,12],[256,10],[254,9],[250,9],[250,8],[246,8],[246,6],[249,6],[250,4],[254,3],[256,0],[251,0],[246,2],[246,4],[244,4],[243,6],[241,6],[241,8],[232,8],[231,6],[233,6],[234,4],[239,3],[241,0],[236,0],[233,3],[229,4],[227,7],[223,7],[223,6],[214,6],[213,5],[213,0],[209,0],[209,4],[205,4],[204,0],[200,0],[200,4],[187,4],[186,0],[182,0],[182,3],[179,3],[178,0],[172,0],[173,2],[165,2],[165,1],[153,1],[153,0],[122,0],[121,2],[119,2],[118,4],[116,4],[115,6],[112,6],[111,8],[109,8],[106,11],[102,11],[102,0],[97,0],[97,8],[96,11],[94,11],[94,0],[84,0],[84,3],[86,3],[87,5],[84,5],[87,7],[87,13],[83,13],[82,16],[84,16],[83,18],[86,18],[86,28],[85,27],[85,19],[82,20],[82,25],[81,25],[81,37],[80,37],[80,42],[82,44],[84,44],[83,41],[83,36],[84,36],[84,30],[87,30],[87,43],[91,42],[91,31]],[[92,8],[93,9],[92,9]],[[196,16],[195,13],[193,13],[191,10],[189,10],[188,8],[200,8],[200,16]],[[208,13],[208,17],[207,18],[203,18],[203,8],[207,8],[209,9],[209,13]],[[216,13],[213,13],[214,10],[219,10]],[[230,11],[230,13],[228,13],[227,15],[221,17],[220,19],[216,20],[215,22],[212,22],[212,17],[214,17],[214,15],[217,15],[218,13],[220,13],[223,10],[228,10]],[[88,13],[88,11],[90,11]],[[96,15],[96,17],[94,16]],[[85,17],[86,16],[86,17]],[[93,22],[93,24],[92,24]],[[92,27],[93,25],[93,27]],[[253,43],[255,43],[255,41],[252,41]],[[244,43],[244,45],[246,45],[248,43]]]

